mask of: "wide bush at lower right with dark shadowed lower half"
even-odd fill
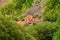
[[[37,40],[52,40],[53,34],[58,28],[59,27],[56,23],[41,22],[34,26],[29,26],[25,30]]]

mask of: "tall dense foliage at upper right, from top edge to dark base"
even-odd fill
[[[60,0],[47,0],[44,6],[44,20],[55,22],[59,13]]]

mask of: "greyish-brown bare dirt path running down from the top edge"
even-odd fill
[[[35,14],[35,13],[38,13],[39,15],[41,15],[42,8],[43,8],[42,6],[43,6],[45,0],[41,0],[41,2],[40,2],[39,5],[36,5],[36,4],[35,4],[35,1],[36,1],[36,0],[34,0],[34,3],[33,3],[33,5],[32,5],[32,8],[31,8],[31,9],[27,9],[27,10],[25,11],[26,14],[31,14],[31,15],[33,15],[33,14]]]

